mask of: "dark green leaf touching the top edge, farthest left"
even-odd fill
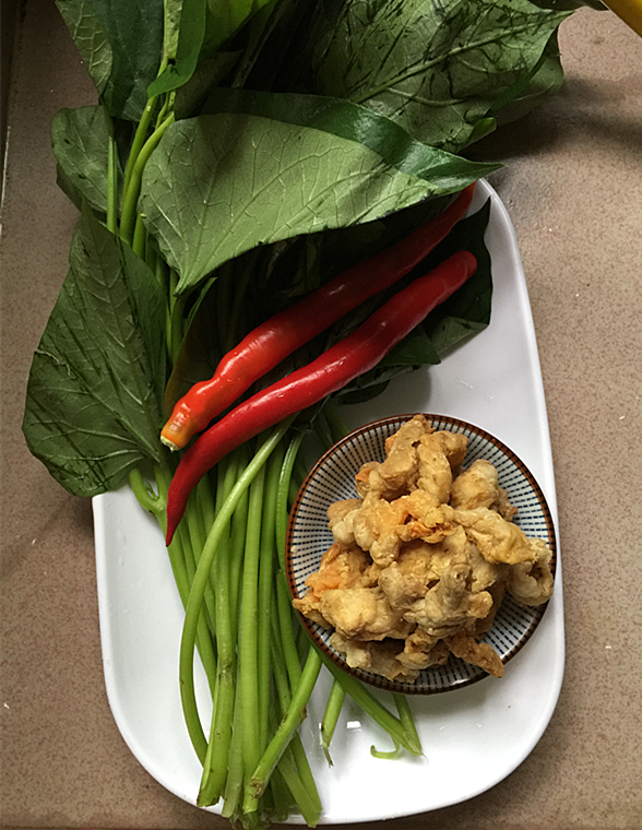
[[[57,0],[107,110],[138,121],[164,47],[163,0]]]

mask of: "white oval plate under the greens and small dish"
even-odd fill
[[[468,420],[507,443],[528,466],[557,526],[546,404],[526,284],[501,200],[480,181],[471,212],[492,200],[487,244],[492,260],[492,320],[435,367],[397,378],[374,401],[346,407],[352,428],[387,415],[438,412]],[[163,786],[194,804],[200,764],[178,690],[182,607],[163,534],[128,488],[94,499],[100,638],[107,695],[131,751]],[[552,715],[564,665],[561,567],[546,614],[501,679],[413,699],[425,757],[382,760],[384,733],[347,702],[329,767],[319,723],[330,689],[323,673],[301,738],[321,799],[322,823],[372,821],[439,809],[499,783],[532,751]],[[209,720],[206,684],[197,677]],[[387,692],[379,692],[387,702]],[[215,807],[213,811],[218,811]],[[293,823],[301,819],[293,817]]]

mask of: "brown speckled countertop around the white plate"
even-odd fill
[[[19,28],[2,206],[2,827],[223,828],[164,791],[120,737],[103,681],[91,505],[55,484],[21,435],[31,355],[75,221],[49,123],[94,94],[54,3],[27,0]],[[564,681],[508,779],[390,830],[642,828],[642,39],[584,9],[562,24],[561,52],[558,96],[476,152],[506,164],[491,182],[515,226],[538,340]]]

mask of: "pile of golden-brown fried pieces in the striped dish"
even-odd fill
[[[504,593],[530,606],[550,597],[550,550],[512,522],[492,464],[461,470],[466,444],[415,415],[383,462],[361,466],[359,498],[329,508],[334,544],[294,605],[333,629],[348,665],[412,683],[454,654],[501,677],[479,639]]]

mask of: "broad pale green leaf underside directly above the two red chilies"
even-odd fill
[[[258,245],[370,222],[488,170],[408,147],[421,178],[404,157],[325,130],[242,112],[187,119],[151,156],[140,211],[186,290]]]

